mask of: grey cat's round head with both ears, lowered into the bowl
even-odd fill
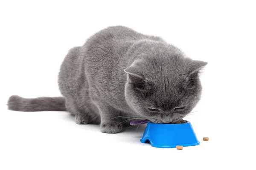
[[[199,73],[205,65],[180,56],[137,59],[125,69],[125,99],[153,123],[175,123],[200,100]]]

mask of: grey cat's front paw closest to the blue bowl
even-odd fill
[[[100,130],[103,133],[119,133],[122,130],[120,122],[108,121],[100,124]]]

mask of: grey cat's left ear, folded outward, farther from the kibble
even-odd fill
[[[128,81],[133,85],[133,87],[139,91],[147,90],[147,83],[140,69],[135,66],[130,66],[125,68],[125,73],[128,74]]]

